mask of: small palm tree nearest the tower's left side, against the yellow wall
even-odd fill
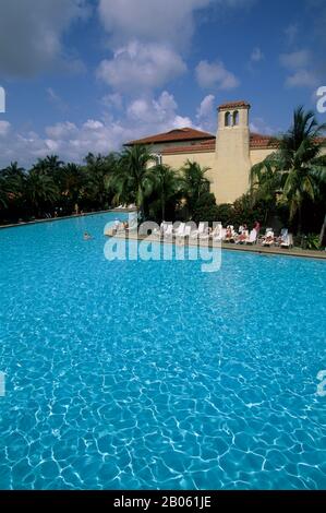
[[[183,191],[191,213],[201,195],[209,192],[209,180],[205,177],[208,169],[209,167],[201,167],[189,159],[181,168]]]

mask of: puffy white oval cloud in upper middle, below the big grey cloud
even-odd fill
[[[150,90],[164,85],[186,70],[181,57],[159,44],[129,43],[101,61],[97,76],[119,91]]]

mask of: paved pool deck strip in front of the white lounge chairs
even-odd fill
[[[126,236],[126,237],[125,237]],[[117,238],[126,238],[131,240],[150,240],[153,242],[165,242],[165,243],[176,243],[177,239],[176,237],[173,238],[168,238],[168,239],[162,239],[158,238],[155,236],[143,236],[136,232],[131,232],[129,231],[128,234],[125,232],[120,232],[114,235]],[[179,239],[180,240],[180,239]],[[198,246],[197,244],[197,239],[195,240],[185,240],[184,243],[186,246]],[[276,246],[274,247],[264,247],[261,244],[253,244],[253,246],[245,246],[245,244],[236,244],[232,242],[221,242],[221,243],[214,243],[212,239],[208,241],[208,247],[209,248],[221,248],[222,250],[228,250],[228,251],[242,251],[242,252],[251,252],[251,253],[257,253],[257,254],[263,254],[263,255],[285,255],[285,256],[301,256],[305,259],[318,259],[318,260],[326,260],[326,251],[315,251],[315,250],[304,250],[301,248],[290,248],[290,249],[285,249],[285,248],[278,248]]]

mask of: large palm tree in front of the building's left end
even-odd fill
[[[150,163],[156,162],[147,146],[136,144],[125,148],[119,159],[112,187],[116,190],[116,201],[121,198],[132,198],[140,210],[141,217],[146,214],[145,200],[154,188],[155,175],[153,168],[148,167]]]

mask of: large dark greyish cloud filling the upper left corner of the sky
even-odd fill
[[[1,2],[0,71],[9,76],[31,76],[81,62],[65,55],[62,35],[73,21],[86,16],[86,0],[10,0]]]

